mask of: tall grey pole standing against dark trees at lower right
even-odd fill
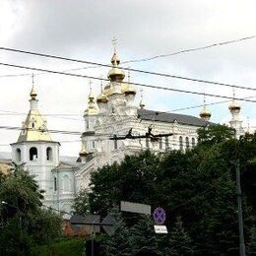
[[[240,256],[245,256],[245,245],[243,236],[243,220],[242,220],[242,193],[240,183],[240,160],[235,161],[235,173],[236,173],[236,193],[237,193],[237,205],[238,205],[238,224],[239,224],[239,252]]]

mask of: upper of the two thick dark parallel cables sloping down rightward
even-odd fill
[[[60,59],[60,60],[65,60],[65,61],[86,63],[86,64],[92,64],[92,65],[97,65],[97,66],[101,66],[101,67],[112,68],[111,65],[107,65],[107,64],[102,64],[102,63],[97,63],[97,62],[92,62],[92,61],[86,61],[86,60],[78,60],[78,59],[73,59],[73,58],[61,57],[61,56],[38,53],[38,52],[32,52],[32,51],[26,51],[26,50],[20,50],[20,49],[9,48],[9,47],[0,47],[0,50],[14,51],[14,52],[30,54],[30,55],[34,55],[34,56],[54,58],[54,59]],[[4,64],[2,64],[2,65],[4,65]],[[6,66],[8,66],[8,65],[6,65]],[[9,66],[12,66],[12,65],[9,65]],[[148,74],[148,75],[155,75],[155,76],[161,76],[161,77],[167,77],[167,78],[173,78],[173,79],[180,79],[180,80],[186,80],[186,81],[197,82],[197,83],[204,83],[204,84],[224,86],[224,87],[230,87],[230,88],[236,88],[236,89],[256,91],[255,88],[251,88],[251,87],[242,87],[242,86],[225,84],[225,83],[220,83],[220,82],[215,82],[215,81],[208,81],[208,80],[203,80],[203,79],[194,79],[194,78],[188,78],[188,77],[183,77],[183,76],[176,76],[176,75],[170,75],[170,74],[164,74],[164,73],[158,73],[158,72],[152,72],[152,71],[146,71],[146,70],[125,68],[125,67],[119,67],[119,68],[123,69],[123,70],[127,70],[127,71],[139,72],[139,73]],[[44,71],[43,69],[37,69],[37,71],[47,72],[47,71]],[[52,72],[52,73],[57,73],[57,72]],[[64,73],[64,72],[60,72],[60,73]],[[108,80],[106,80],[106,81],[108,81]]]

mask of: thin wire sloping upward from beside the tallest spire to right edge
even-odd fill
[[[190,49],[185,49],[185,50],[179,50],[179,51],[172,52],[172,53],[167,53],[167,54],[160,54],[160,55],[156,55],[156,56],[153,56],[153,57],[128,60],[128,61],[124,61],[122,63],[149,61],[149,60],[154,60],[154,59],[158,59],[158,58],[164,58],[164,57],[174,56],[174,55],[178,55],[178,54],[182,54],[182,53],[187,53],[187,52],[191,52],[191,51],[205,50],[205,49],[209,49],[209,48],[213,48],[213,47],[217,47],[217,46],[223,46],[223,45],[226,45],[226,44],[231,44],[231,43],[244,41],[244,40],[248,40],[248,39],[254,39],[255,37],[256,37],[256,35],[251,35],[251,36],[246,36],[246,37],[242,37],[242,38],[239,38],[239,39],[217,42],[217,43],[209,44],[209,45],[206,45],[206,46],[190,48]]]

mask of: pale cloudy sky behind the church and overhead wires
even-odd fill
[[[121,60],[150,57],[204,46],[256,34],[256,2],[237,0],[1,0],[0,46],[15,47],[72,58],[109,63],[111,40],[118,38]],[[132,68],[164,72],[187,77],[254,87],[256,80],[256,39],[225,46],[129,64]],[[48,60],[0,51],[2,62],[30,65],[54,70],[85,65]],[[0,76],[32,73],[0,67]],[[106,76],[107,69],[95,68],[79,72]],[[231,96],[230,89],[162,79],[137,73],[132,81]],[[76,114],[70,120],[48,118],[49,129],[83,131],[82,115],[87,106],[88,80],[54,75],[35,77],[42,113]],[[27,112],[31,77],[1,78],[0,110]],[[99,83],[94,82],[96,93]],[[139,89],[138,89],[139,91]],[[254,92],[237,90],[237,96],[253,96]],[[139,94],[138,94],[139,95]],[[202,96],[187,96],[144,90],[151,109],[170,110],[202,103]],[[256,92],[255,92],[256,96]],[[256,97],[255,97],[256,99]],[[217,101],[218,98],[207,98]],[[226,104],[209,107],[214,121],[227,121]],[[242,103],[242,114],[256,119],[255,103]],[[187,111],[198,115],[200,109]],[[80,115],[80,116],[79,116]],[[21,125],[25,116],[0,116],[1,125]],[[246,124],[245,120],[245,124]],[[256,123],[254,123],[256,125]],[[1,131],[0,144],[16,141],[18,132]],[[78,137],[54,136],[56,140],[79,140]],[[1,147],[0,151],[10,151]],[[77,155],[79,144],[62,145],[62,155]]]

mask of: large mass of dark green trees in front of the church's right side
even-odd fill
[[[239,140],[233,136],[228,127],[209,126],[199,130],[200,143],[191,151],[166,156],[143,152],[94,172],[88,195],[92,212],[104,216],[124,200],[149,204],[153,209],[161,206],[167,215],[168,238],[160,241],[152,225],[147,226],[138,215],[123,213],[124,228],[110,238],[108,247],[125,244],[125,248],[145,247],[162,255],[168,255],[167,249],[169,255],[237,255],[234,163],[239,159],[245,241],[253,248],[256,134]],[[137,251],[124,253],[135,255]]]

